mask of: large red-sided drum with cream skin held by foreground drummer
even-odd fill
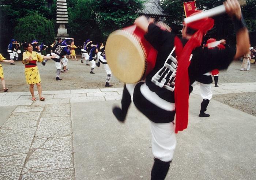
[[[153,70],[157,50],[136,25],[112,32],[106,42],[106,60],[112,73],[124,83],[136,83]]]

